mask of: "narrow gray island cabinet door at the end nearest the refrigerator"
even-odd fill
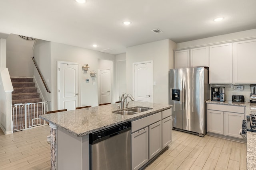
[[[162,119],[162,149],[172,142],[172,116]]]

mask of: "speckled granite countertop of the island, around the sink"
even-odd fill
[[[84,109],[76,109],[70,111],[62,111],[41,115],[40,117],[57,127],[60,127],[78,137],[93,133],[120,123],[133,121],[160,111],[170,109],[172,105],[156,104],[130,101],[128,107],[150,107],[152,109],[134,115],[120,115],[112,113],[117,111],[117,104],[109,104],[96,107],[88,107]],[[123,110],[123,109],[120,109]]]

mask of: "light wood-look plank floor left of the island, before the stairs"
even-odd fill
[[[50,127],[4,135],[0,129],[0,170],[50,170]]]

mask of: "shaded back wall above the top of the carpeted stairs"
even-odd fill
[[[6,66],[12,77],[33,76],[33,45],[35,41],[22,39],[10,34],[6,39]]]

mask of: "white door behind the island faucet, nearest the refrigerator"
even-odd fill
[[[134,63],[134,96],[136,101],[152,102],[152,62]]]

